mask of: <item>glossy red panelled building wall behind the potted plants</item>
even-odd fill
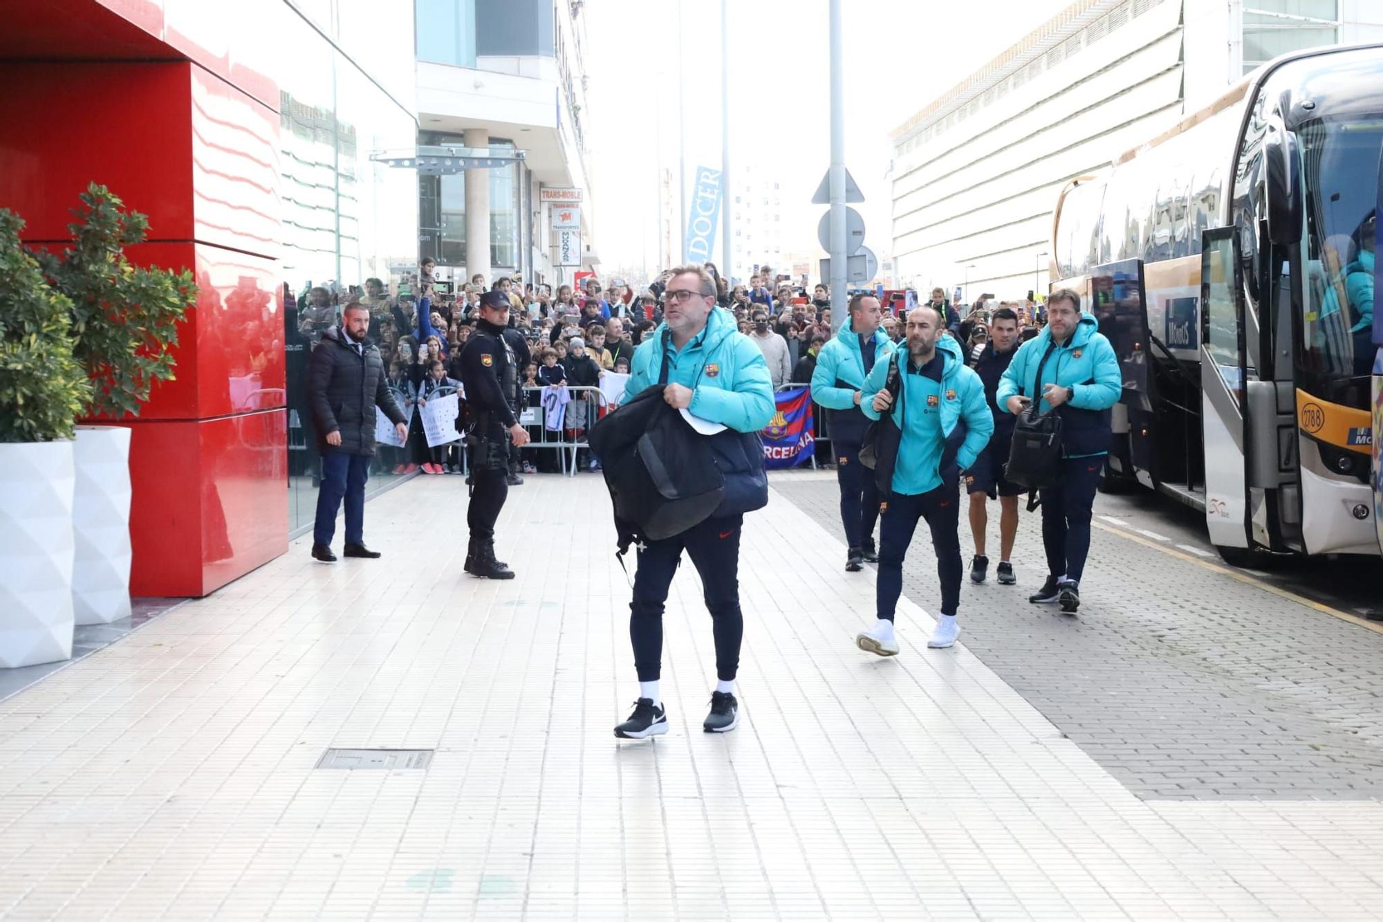
[[[159,14],[109,6],[141,25]],[[205,595],[282,554],[278,115],[188,61],[26,61],[0,64],[0,206],[29,222],[26,239],[65,239],[68,209],[95,180],[149,216],[151,242],[131,259],[191,267],[201,288],[176,381],[127,421],[131,593]]]

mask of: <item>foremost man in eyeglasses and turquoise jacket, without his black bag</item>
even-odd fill
[[[668,731],[658,694],[662,663],[662,608],[682,551],[701,576],[715,635],[716,685],[707,732],[726,732],[739,723],[734,680],[740,665],[744,616],[740,612],[740,526],[744,514],[768,504],[763,450],[757,433],[773,418],[773,386],[758,346],[739,332],[734,314],[715,306],[716,287],[700,266],[672,270],[664,292],[664,321],[633,352],[625,395],[662,383],[669,406],[687,411],[711,440],[725,478],[725,498],[711,518],[680,534],[639,545],[629,604],[629,640],[639,673],[639,700],[614,728],[621,739],[644,739]],[[743,435],[741,435],[743,433]]]

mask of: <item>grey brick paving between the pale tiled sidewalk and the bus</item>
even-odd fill
[[[839,532],[834,472],[774,475],[773,485]],[[1076,619],[1028,604],[1047,575],[1040,512],[1019,514],[1012,587],[993,577],[997,504],[990,579],[981,586],[968,577],[974,544],[961,515],[961,640],[1144,797],[1383,796],[1383,634],[1234,580],[1218,558],[1188,559],[1199,551],[1192,545],[1180,555],[1148,547],[1159,544],[1148,536],[1160,536],[1130,518],[1134,508],[1097,497]],[[833,563],[845,576],[844,552]],[[938,599],[925,534],[903,563],[903,591],[922,605]]]

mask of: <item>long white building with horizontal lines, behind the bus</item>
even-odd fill
[[[1383,39],[1375,0],[1080,0],[893,132],[895,274],[1018,299],[1051,216],[1098,172],[1278,54]]]

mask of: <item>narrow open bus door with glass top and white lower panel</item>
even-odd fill
[[[1200,421],[1206,527],[1218,548],[1250,548],[1243,275],[1236,228],[1205,231],[1200,251]]]

